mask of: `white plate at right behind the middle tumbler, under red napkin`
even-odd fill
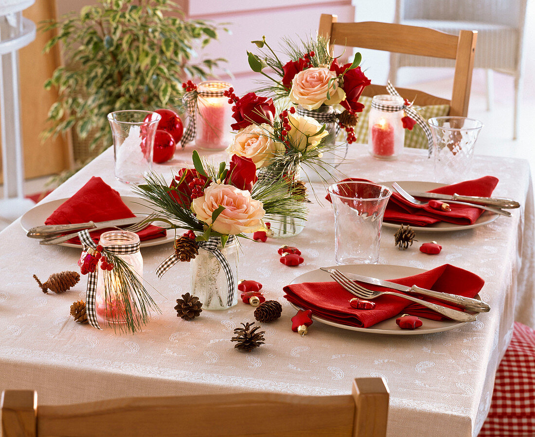
[[[408,191],[409,193],[412,192],[422,192],[422,191],[429,191],[434,190],[435,188],[440,188],[441,186],[444,186],[446,184],[440,184],[438,182],[423,182],[423,181],[397,181],[398,184],[401,185],[401,187]],[[381,185],[385,185],[388,188],[392,188],[392,184],[394,181],[388,181],[388,182],[379,182]],[[394,191],[394,190],[392,190]],[[394,191],[395,192],[395,191]],[[491,223],[496,218],[498,218],[500,215],[491,213],[490,211],[483,212],[482,215],[478,217],[475,223],[473,224],[455,224],[455,223],[446,223],[446,222],[438,222],[431,224],[429,226],[414,226],[411,225],[411,228],[415,231],[430,231],[430,232],[452,232],[452,231],[463,231],[465,229],[472,229],[472,228],[478,228],[480,226],[483,226],[485,224]],[[383,222],[383,226],[385,228],[391,228],[391,229],[398,229],[400,227],[401,223],[388,223]]]

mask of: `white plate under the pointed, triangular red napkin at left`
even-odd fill
[[[152,212],[152,209],[142,204],[143,200],[139,197],[121,196],[121,199],[135,215],[145,215],[150,214]],[[29,229],[43,225],[44,221],[47,220],[47,218],[59,207],[59,205],[63,204],[63,202],[65,202],[66,200],[67,199],[52,200],[50,202],[46,202],[44,204],[33,207],[22,217],[20,217],[20,224],[22,225],[22,229],[28,232]],[[174,232],[167,231],[167,235],[165,237],[141,241],[141,247],[157,246],[159,244],[172,243],[173,240]],[[35,242],[39,243],[37,239],[35,239]],[[80,248],[79,244],[72,243],[61,243],[58,246],[76,247],[77,249]]]

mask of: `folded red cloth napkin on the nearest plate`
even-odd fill
[[[450,264],[444,264],[418,275],[389,280],[408,287],[417,285],[428,290],[458,294],[468,298],[473,298],[485,283],[482,278],[472,272]],[[391,288],[364,283],[361,283],[361,285],[370,290],[393,291],[403,294]],[[301,308],[312,310],[312,314],[318,317],[348,326],[370,327],[398,315],[401,311],[434,320],[445,319],[445,317],[429,308],[396,296],[380,296],[373,299],[376,304],[373,309],[353,308],[349,305],[349,300],[355,296],[335,282],[305,282],[287,285],[283,290],[286,293],[284,297],[289,302]],[[425,298],[425,300],[462,310],[462,308],[457,308],[445,302],[430,298]]]

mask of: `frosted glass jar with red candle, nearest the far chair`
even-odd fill
[[[403,98],[373,96],[368,120],[368,146],[373,157],[396,159],[403,152]]]

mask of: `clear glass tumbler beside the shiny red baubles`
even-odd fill
[[[115,177],[127,184],[143,182],[152,169],[154,137],[161,115],[150,111],[108,114],[113,136]]]

